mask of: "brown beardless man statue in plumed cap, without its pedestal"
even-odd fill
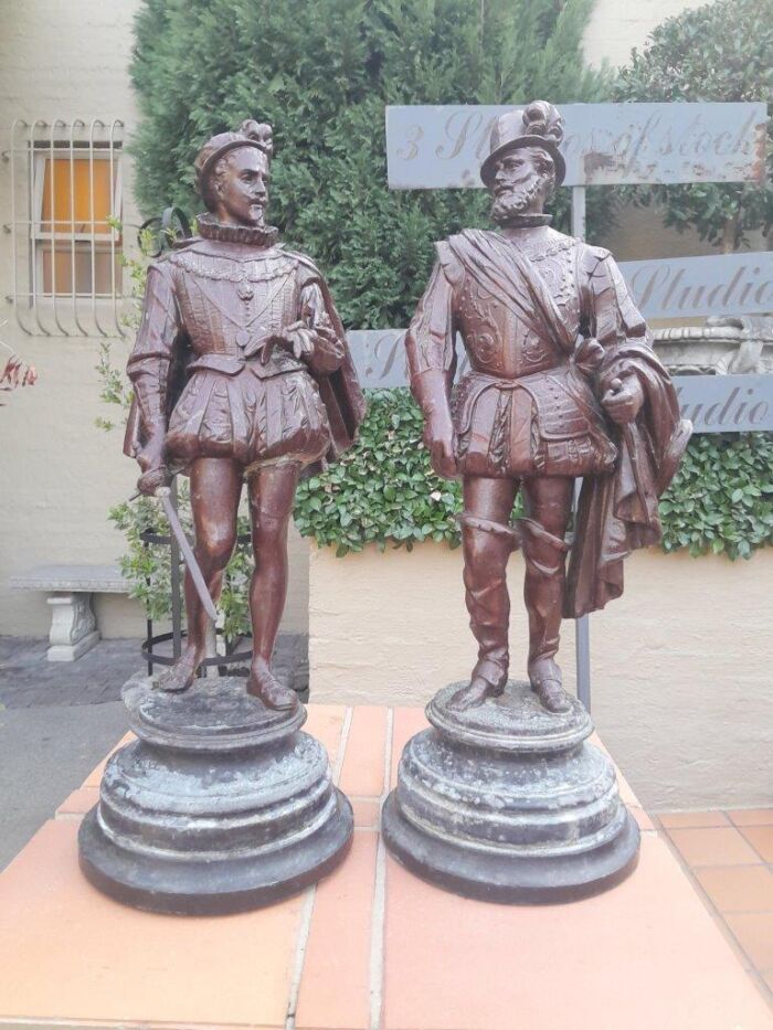
[[[247,691],[273,709],[297,704],[271,659],[287,588],[287,527],[299,474],[353,440],[364,401],[343,328],[309,258],[266,225],[272,129],[243,123],[195,159],[208,213],[200,236],[150,266],[128,363],[136,405],[127,453],[141,492],[182,470],[191,480],[195,558],[216,601],[234,549],[246,480],[255,571]],[[189,572],[187,645],[159,677],[186,690],[204,657],[208,615]]]

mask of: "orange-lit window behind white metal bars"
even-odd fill
[[[100,119],[13,125],[10,299],[25,332],[124,333],[121,130]]]

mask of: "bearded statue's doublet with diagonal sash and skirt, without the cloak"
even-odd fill
[[[587,284],[606,252],[546,226],[512,240],[465,232],[438,244],[437,257],[406,347],[413,379],[451,373],[456,333],[464,340],[469,370],[452,403],[460,470],[527,478],[612,469],[617,450],[592,374],[576,361],[595,322]],[[554,321],[536,317],[534,280]]]

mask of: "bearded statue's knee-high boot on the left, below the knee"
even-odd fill
[[[449,708],[460,712],[500,694],[507,684],[510,655],[510,598],[506,570],[516,546],[516,532],[490,519],[465,511],[459,517],[464,546],[465,601],[469,625],[478,641],[478,660],[469,686],[457,690]]]

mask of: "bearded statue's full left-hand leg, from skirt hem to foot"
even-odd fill
[[[466,476],[464,480],[460,522],[465,601],[478,641],[478,660],[469,686],[451,700],[457,711],[481,704],[487,697],[501,693],[507,683],[510,598],[506,570],[515,544],[509,519],[517,489],[513,479]]]

